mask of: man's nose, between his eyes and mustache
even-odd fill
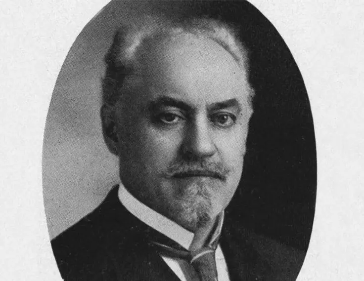
[[[185,135],[183,152],[198,158],[210,157],[216,153],[213,134],[206,118],[196,119],[190,124]]]

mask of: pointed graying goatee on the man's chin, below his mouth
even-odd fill
[[[203,181],[194,182],[180,189],[173,209],[173,217],[181,226],[189,230],[204,227],[213,219],[213,189]]]

